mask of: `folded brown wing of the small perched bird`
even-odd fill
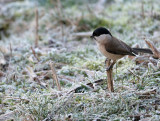
[[[112,42],[105,45],[106,51],[117,55],[135,55],[130,46],[121,40],[113,37]]]

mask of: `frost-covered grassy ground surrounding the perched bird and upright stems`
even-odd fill
[[[74,36],[105,26],[130,46],[147,47],[145,37],[159,47],[159,1],[147,1],[108,2],[97,11],[99,3],[89,1],[4,3],[0,11],[0,120],[158,121],[159,60],[148,55],[119,60],[113,72],[115,92],[109,93],[105,58],[93,40]],[[39,48],[34,48],[35,6]],[[50,61],[62,91],[53,81]]]

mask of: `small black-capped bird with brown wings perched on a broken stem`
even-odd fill
[[[113,61],[106,68],[106,71],[110,70],[116,61],[125,55],[136,56],[139,52],[153,54],[152,51],[147,48],[131,48],[123,41],[112,36],[110,31],[104,27],[95,29],[91,38],[96,40],[100,52],[107,57],[107,59]]]

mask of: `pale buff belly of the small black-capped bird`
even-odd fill
[[[124,56],[124,55],[117,55],[117,54],[112,54],[112,53],[107,52],[103,45],[98,45],[98,48],[104,56],[106,56],[107,58],[112,59],[114,61],[116,61],[117,59],[120,59]]]

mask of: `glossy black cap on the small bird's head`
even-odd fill
[[[100,36],[102,34],[109,34],[109,35],[111,35],[111,33],[109,32],[108,29],[106,29],[104,27],[99,27],[99,28],[97,28],[96,30],[93,31],[93,34],[92,34],[91,38],[93,38],[94,36]]]

